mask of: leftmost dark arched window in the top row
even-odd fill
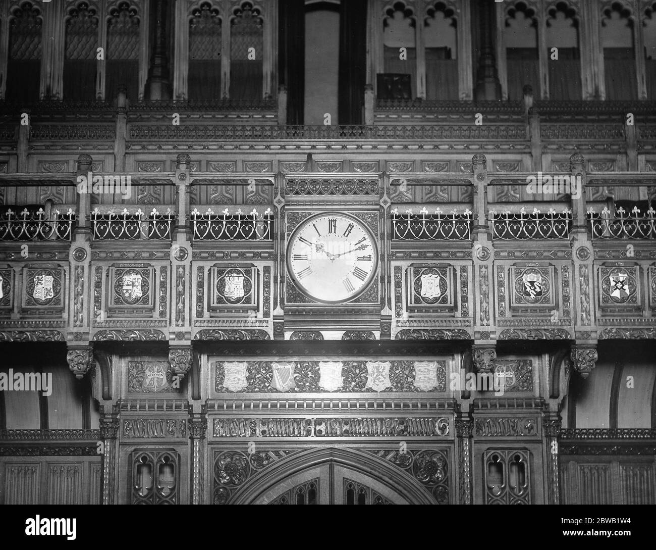
[[[22,2],[11,11],[7,100],[33,102],[39,99],[41,22],[41,10],[31,2]]]

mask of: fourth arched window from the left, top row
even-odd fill
[[[221,18],[211,2],[192,11],[189,20],[188,97],[216,100],[221,97]]]

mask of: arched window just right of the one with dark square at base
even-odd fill
[[[424,18],[426,99],[458,98],[457,24],[453,9],[436,2]]]

